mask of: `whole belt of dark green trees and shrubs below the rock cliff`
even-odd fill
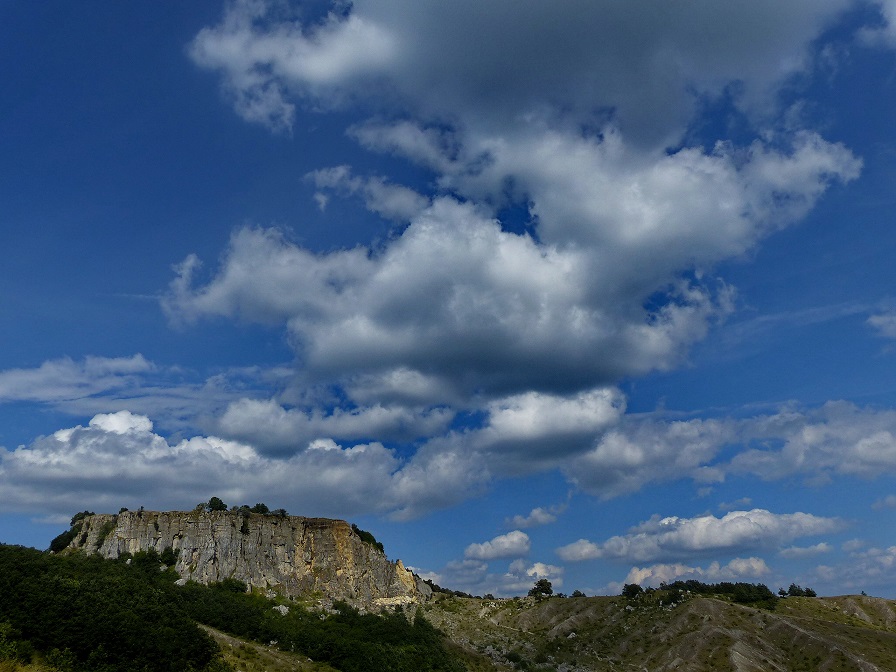
[[[0,661],[39,660],[60,672],[229,670],[202,623],[345,672],[464,669],[422,616],[364,615],[347,604],[321,614],[291,603],[284,614],[240,581],[177,586],[163,567],[155,551],[103,560],[0,545]]]

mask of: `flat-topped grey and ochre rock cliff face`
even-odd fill
[[[362,605],[404,604],[432,591],[389,561],[344,520],[228,511],[123,511],[81,520],[68,546],[104,558],[165,549],[174,569],[199,583],[238,579],[298,597],[322,593]]]

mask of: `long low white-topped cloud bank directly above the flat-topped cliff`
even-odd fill
[[[345,447],[323,439],[286,458],[215,436],[169,443],[146,416],[120,411],[28,446],[0,449],[0,508],[69,514],[85,507],[189,509],[217,494],[304,515],[409,517],[471,496],[483,478],[488,472],[470,459],[419,454],[402,460],[376,442]]]

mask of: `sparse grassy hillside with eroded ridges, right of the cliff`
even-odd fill
[[[424,611],[471,670],[896,669],[896,603],[869,597],[788,598],[775,611],[703,597],[450,598]]]

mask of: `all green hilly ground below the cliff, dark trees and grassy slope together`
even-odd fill
[[[373,614],[233,579],[184,583],[163,558],[0,545],[0,672],[896,670],[896,602],[866,596],[768,599],[748,584],[629,597],[437,593]]]

